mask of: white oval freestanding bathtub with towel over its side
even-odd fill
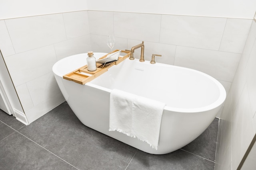
[[[94,53],[96,59],[106,53]],[[179,66],[126,59],[84,85],[62,78],[86,64],[87,54],[66,57],[52,70],[60,90],[86,126],[151,154],[166,154],[196,139],[214,120],[226,98],[223,86],[211,76]],[[112,89],[166,103],[158,150],[146,142],[109,129]]]

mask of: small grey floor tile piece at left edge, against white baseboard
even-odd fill
[[[13,115],[8,115],[1,109],[0,109],[0,121],[4,122],[6,125],[12,127],[15,130],[18,130],[21,127],[25,126],[23,123],[18,121],[16,117],[14,117]]]

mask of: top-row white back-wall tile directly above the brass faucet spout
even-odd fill
[[[116,37],[159,42],[161,15],[114,12]]]

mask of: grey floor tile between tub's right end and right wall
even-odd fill
[[[214,119],[209,127],[194,141],[183,147],[183,150],[215,161],[219,120]]]

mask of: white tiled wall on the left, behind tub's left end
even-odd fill
[[[53,64],[91,49],[87,11],[0,20],[0,37],[29,123],[64,102]]]

